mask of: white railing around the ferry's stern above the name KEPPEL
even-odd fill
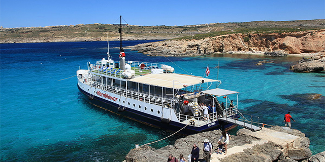
[[[212,121],[218,120],[219,117],[217,112],[212,112],[207,115],[200,115],[200,116],[192,116],[192,115],[185,115],[181,113],[176,113],[178,120],[181,123],[189,124],[190,126],[201,127],[203,125],[207,125]]]

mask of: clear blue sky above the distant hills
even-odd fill
[[[1,0],[0,2],[0,25],[3,27],[111,24],[120,15],[128,24],[145,26],[312,20],[325,19],[325,1]]]

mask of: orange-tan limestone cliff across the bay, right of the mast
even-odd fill
[[[287,54],[316,53],[325,49],[325,30],[289,33],[229,34],[201,40],[169,40],[137,45],[135,50],[150,55],[207,55],[215,52],[283,51]]]

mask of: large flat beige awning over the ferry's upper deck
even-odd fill
[[[129,80],[136,83],[164,87],[164,88],[173,88],[173,80],[174,80],[174,88],[181,89],[184,88],[184,86],[201,84],[202,79],[204,79],[205,83],[219,82],[218,80],[203,78],[201,76],[176,74],[176,73],[147,74]]]

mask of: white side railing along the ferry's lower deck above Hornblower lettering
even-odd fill
[[[150,94],[148,92],[138,92],[136,89],[123,89],[111,85],[103,85],[100,83],[91,83],[92,87],[99,88],[101,90],[111,92],[134,100],[155,104],[158,106],[174,108],[173,97],[161,96],[158,94]]]

